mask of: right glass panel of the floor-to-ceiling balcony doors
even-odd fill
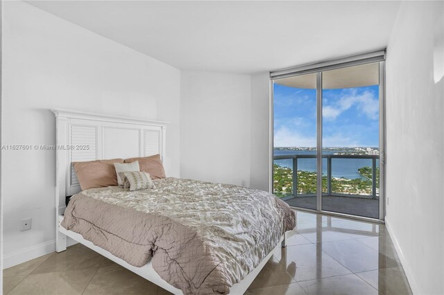
[[[379,63],[322,75],[322,209],[379,218]]]

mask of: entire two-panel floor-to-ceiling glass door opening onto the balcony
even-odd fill
[[[273,193],[298,208],[384,219],[384,55],[272,78]]]

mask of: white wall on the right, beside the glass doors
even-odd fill
[[[387,48],[386,224],[415,294],[444,294],[443,15],[442,1],[402,3]]]

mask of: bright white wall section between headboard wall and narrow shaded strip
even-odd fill
[[[180,177],[250,182],[250,76],[182,71]]]

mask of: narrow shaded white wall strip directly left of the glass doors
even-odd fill
[[[270,189],[270,75],[251,76],[250,187]]]

